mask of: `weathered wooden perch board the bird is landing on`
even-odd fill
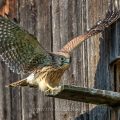
[[[92,104],[105,104],[108,106],[120,105],[120,93],[93,88],[63,85],[54,93],[47,93],[46,95],[54,98],[61,98]]]

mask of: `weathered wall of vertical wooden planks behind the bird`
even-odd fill
[[[49,51],[57,51],[104,18],[111,0],[17,0],[17,20]],[[118,0],[119,2],[119,0]],[[85,41],[72,54],[61,84],[114,90],[109,68],[110,31]],[[5,88],[20,79],[0,64],[0,120],[117,120],[117,109],[53,99],[32,88]],[[116,117],[116,118],[115,118]]]

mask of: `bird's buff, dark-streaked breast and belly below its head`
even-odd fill
[[[68,69],[68,67],[68,65],[56,68],[53,66],[46,66],[42,69],[38,69],[36,73],[34,73],[34,83],[37,83],[42,91],[48,89],[47,84],[51,87],[56,87],[59,84],[64,71]]]

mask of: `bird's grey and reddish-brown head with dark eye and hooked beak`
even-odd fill
[[[53,65],[56,66],[69,66],[71,63],[71,58],[68,53],[56,52],[50,53],[52,56]]]

